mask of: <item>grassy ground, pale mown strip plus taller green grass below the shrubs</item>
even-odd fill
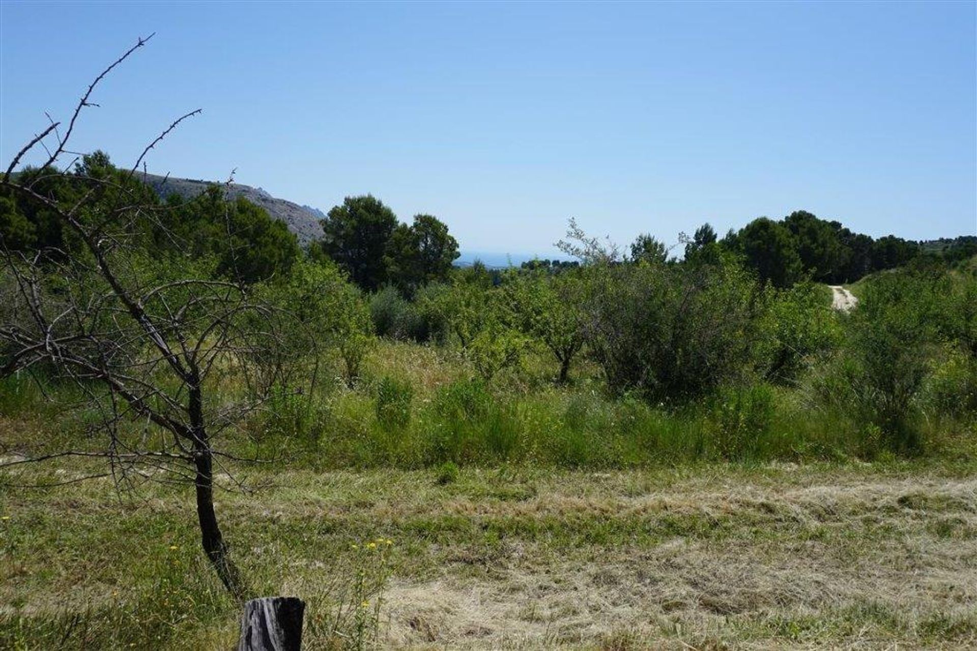
[[[381,342],[313,417],[290,424],[283,404],[225,442],[284,454],[232,463],[216,504],[251,592],[308,601],[306,648],[977,645],[972,425],[934,423],[921,456],[865,456],[857,423],[781,392],[742,448],[718,448],[721,404],[616,401],[590,367],[554,388],[546,358],[495,388],[464,372]],[[406,424],[377,407],[391,375],[414,387]],[[85,412],[5,387],[5,460],[41,439],[98,445]],[[75,483],[105,471],[4,470],[0,648],[234,648],[238,606],[200,551],[191,489],[151,472],[132,490]]]

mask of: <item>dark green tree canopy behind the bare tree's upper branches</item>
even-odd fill
[[[209,260],[213,273],[223,278],[250,283],[281,277],[301,255],[283,222],[243,197],[229,200],[221,186],[163,202],[142,178],[115,167],[105,152],[85,155],[67,173],[49,167],[19,174],[22,183],[65,207],[80,202],[79,217],[96,232],[125,233],[127,246],[153,257],[189,254]],[[141,209],[125,209],[132,205]],[[125,215],[126,223],[118,223],[118,215]],[[85,255],[63,226],[40,202],[0,196],[0,239],[9,248],[39,250],[49,258]]]

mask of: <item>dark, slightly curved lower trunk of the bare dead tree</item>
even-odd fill
[[[200,542],[217,576],[235,599],[244,598],[244,584],[231,561],[228,546],[217,524],[214,511],[214,456],[203,425],[203,409],[199,386],[190,389],[190,417],[193,431],[193,463],[196,467],[196,518],[200,525]]]

